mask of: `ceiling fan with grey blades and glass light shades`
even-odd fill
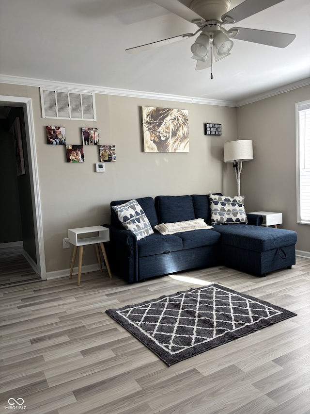
[[[266,30],[233,27],[227,30],[223,25],[237,23],[246,17],[255,15],[283,0],[245,0],[229,10],[231,0],[152,0],[175,15],[198,26],[195,33],[185,33],[135,48],[126,49],[127,53],[139,53],[178,40],[187,39],[201,32],[191,46],[192,58],[197,60],[196,70],[212,67],[216,62],[230,55],[233,39],[285,48],[293,42],[295,34],[269,32]],[[182,1],[182,2],[181,2]],[[185,4],[186,3],[186,4]],[[211,73],[211,79],[213,75]]]

